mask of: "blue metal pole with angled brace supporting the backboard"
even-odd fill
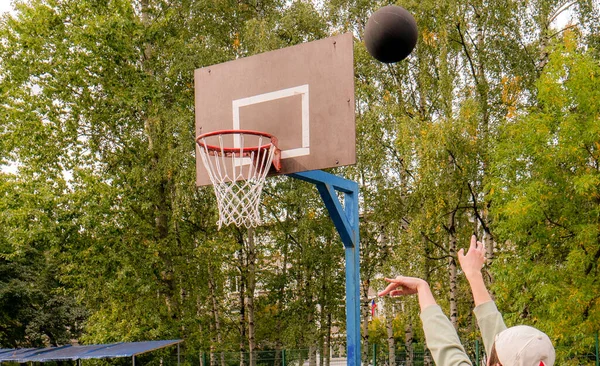
[[[317,186],[345,247],[347,365],[360,366],[360,253],[358,184],[321,170],[289,174]],[[344,193],[344,207],[335,191]]]

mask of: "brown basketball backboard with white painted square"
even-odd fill
[[[351,33],[204,67],[194,77],[196,135],[272,134],[279,174],[356,162]],[[197,185],[212,184],[196,156]]]

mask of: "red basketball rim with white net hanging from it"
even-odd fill
[[[220,130],[196,138],[217,196],[219,229],[260,225],[260,195],[271,169],[281,169],[277,138],[251,130]]]

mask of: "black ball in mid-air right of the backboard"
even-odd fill
[[[406,9],[395,5],[374,12],[365,27],[367,51],[385,63],[408,57],[417,44],[417,37],[415,18]]]

